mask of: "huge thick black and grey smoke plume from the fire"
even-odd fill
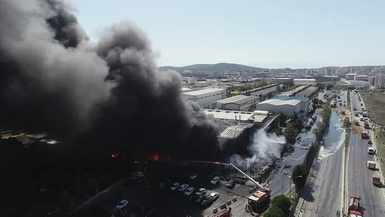
[[[5,125],[87,135],[112,149],[215,149],[215,136],[231,123],[181,100],[180,75],[158,71],[140,28],[118,23],[91,44],[71,8],[57,0],[0,0]]]

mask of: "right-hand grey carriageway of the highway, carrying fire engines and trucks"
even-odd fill
[[[361,105],[357,94],[351,92],[350,97],[352,112],[354,113],[354,105],[356,105],[357,111],[360,111]],[[362,126],[362,122],[360,122],[360,125]],[[378,175],[378,172],[370,170],[366,166],[366,161],[374,161],[374,156],[368,154],[369,146],[371,145],[368,144],[367,139],[362,139],[360,135],[355,135],[351,132],[349,154],[347,156],[347,197],[351,194],[356,194],[361,198],[360,206],[363,216],[385,216],[383,190],[374,186],[371,180],[373,175]]]

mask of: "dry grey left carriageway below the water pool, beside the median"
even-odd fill
[[[343,146],[336,153],[321,160],[318,170],[314,170],[312,182],[305,186],[305,209],[302,216],[334,216],[341,209]]]

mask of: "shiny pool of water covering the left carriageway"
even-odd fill
[[[343,122],[336,112],[330,117],[329,132],[324,136],[324,145],[319,150],[318,159],[322,160],[334,153],[344,144],[345,129],[341,128]]]

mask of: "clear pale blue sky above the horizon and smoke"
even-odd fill
[[[383,0],[72,0],[92,40],[129,20],[158,66],[229,62],[263,68],[384,65]]]

